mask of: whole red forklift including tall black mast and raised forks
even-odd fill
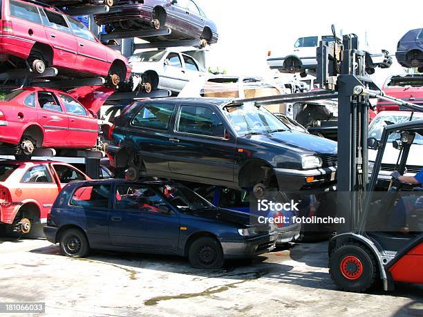
[[[337,39],[333,26],[332,32]],[[395,281],[423,283],[422,228],[411,233],[399,233],[383,226],[379,230],[368,230],[368,220],[378,222],[387,218],[385,210],[395,208],[398,200],[395,197],[402,184],[395,181],[395,186],[378,201],[373,197],[373,190],[388,136],[400,133],[403,138],[395,142],[404,141],[400,144],[402,150],[397,164],[397,171],[404,173],[411,140],[415,135],[422,135],[423,122],[388,126],[382,140],[372,140],[373,144],[369,145],[379,152],[369,182],[370,97],[389,100],[411,111],[423,111],[423,107],[384,95],[368,75],[375,73],[377,67],[391,66],[388,53],[369,55],[358,46],[357,35],[344,35],[342,41],[335,43],[321,42],[317,48],[317,81],[321,90],[245,101],[265,105],[338,98],[337,217],[345,222],[339,225],[337,236],[329,243],[330,274],[346,291],[366,291],[377,278],[388,290],[393,289]],[[372,218],[374,214],[376,217]]]

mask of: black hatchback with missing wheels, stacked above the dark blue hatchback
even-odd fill
[[[326,189],[337,143],[291,130],[264,107],[232,99],[134,102],[115,120],[111,166],[140,175],[252,190]]]

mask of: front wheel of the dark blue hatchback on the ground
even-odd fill
[[[220,269],[225,264],[220,243],[210,237],[195,240],[189,247],[188,258],[196,269]]]

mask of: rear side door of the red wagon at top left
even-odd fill
[[[40,9],[46,37],[53,46],[53,65],[74,69],[77,57],[77,41],[63,15]],[[78,68],[79,71],[84,69]]]

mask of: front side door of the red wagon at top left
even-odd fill
[[[81,22],[68,17],[69,25],[77,41],[77,59],[75,68],[87,70],[95,75],[107,75],[110,64],[103,44],[98,43],[93,33]]]

